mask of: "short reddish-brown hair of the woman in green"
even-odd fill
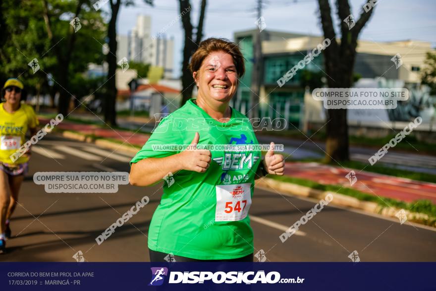
[[[238,45],[225,38],[208,38],[202,41],[195,53],[191,57],[189,69],[191,73],[198,71],[203,63],[203,60],[212,52],[223,51],[233,58],[236,66],[238,77],[242,77],[245,73],[244,56],[242,56]]]

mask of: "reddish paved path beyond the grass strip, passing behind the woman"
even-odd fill
[[[46,124],[49,119],[39,118],[41,124]],[[64,120],[57,125],[62,130],[73,130],[82,135],[94,135],[100,138],[109,138],[121,143],[128,143],[142,147],[150,137],[149,134],[135,131],[101,128],[97,125],[78,124]],[[370,172],[359,172],[354,169],[357,182],[353,185],[345,177],[352,169],[328,166],[319,163],[286,162],[285,175],[303,178],[320,184],[339,184],[343,187],[354,188],[362,192],[388,197],[401,201],[412,202],[418,199],[429,199],[436,203],[436,184],[421,182],[406,178],[381,175]]]

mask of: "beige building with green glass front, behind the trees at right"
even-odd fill
[[[257,37],[257,30],[234,33],[234,40],[241,47],[244,57],[248,60],[246,74],[241,80],[238,94],[232,106],[245,113],[250,104],[251,74],[253,59],[253,43]],[[323,54],[306,64],[281,87],[277,80],[286,74],[314,48],[322,44],[324,37],[313,35],[293,34],[279,31],[263,30],[262,55],[263,76],[260,88],[260,116],[284,117],[295,126],[303,128],[308,119],[323,120],[324,110],[320,101],[313,100],[311,92],[301,85],[301,73],[304,70],[320,72],[324,69]],[[338,40],[340,41],[340,40]],[[328,49],[328,48],[327,48]],[[408,86],[420,83],[420,71],[424,66],[426,53],[434,51],[430,42],[396,41],[374,42],[360,40],[354,72],[362,78],[383,80],[384,84],[400,84]],[[396,66],[392,60],[397,56]],[[386,113],[386,118],[387,113]]]

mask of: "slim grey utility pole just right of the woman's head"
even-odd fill
[[[260,85],[262,78],[262,39],[261,32],[263,30],[263,19],[262,19],[262,0],[257,0],[257,20],[259,30],[254,35],[253,39],[253,71],[251,73],[251,98],[250,98],[250,108],[249,118],[259,117],[259,102],[260,102]]]

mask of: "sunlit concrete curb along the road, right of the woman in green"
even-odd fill
[[[335,192],[321,191],[289,182],[277,181],[267,177],[258,179],[255,181],[255,183],[257,187],[265,188],[267,190],[273,189],[276,191],[281,191],[286,194],[290,194],[289,196],[302,196],[321,200],[324,199],[328,194],[331,194],[333,196],[333,200],[331,200],[330,204],[360,209],[365,212],[377,213],[390,218],[398,219],[395,215],[401,210],[393,207],[382,207],[380,204],[375,202],[361,201],[357,198]],[[410,212],[408,210],[404,210],[404,213],[407,216],[407,221],[436,227],[435,223],[433,225],[429,225],[427,223],[427,221],[430,220],[430,217],[427,214]]]

